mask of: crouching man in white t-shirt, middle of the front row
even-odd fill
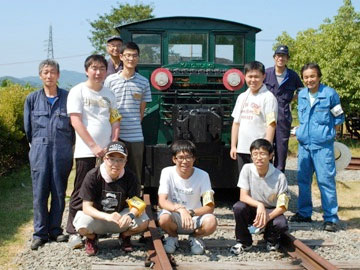
[[[201,237],[212,234],[217,226],[214,191],[207,172],[194,167],[196,147],[188,140],[171,145],[175,166],[164,168],[160,176],[158,217],[160,227],[169,235],[164,248],[174,253],[178,234],[189,234],[191,252],[204,253]],[[203,203],[201,204],[201,197]]]

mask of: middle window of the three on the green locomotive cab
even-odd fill
[[[168,63],[207,61],[208,35],[199,33],[169,34]]]

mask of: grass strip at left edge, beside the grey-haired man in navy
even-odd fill
[[[0,269],[14,269],[11,258],[23,249],[32,230],[30,169],[24,166],[0,178]]]

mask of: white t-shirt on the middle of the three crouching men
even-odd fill
[[[194,173],[188,178],[181,178],[176,172],[176,166],[166,167],[161,171],[158,194],[167,194],[168,200],[184,205],[187,209],[202,206],[201,196],[211,191],[209,174],[194,167]]]

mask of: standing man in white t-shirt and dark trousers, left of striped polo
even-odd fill
[[[79,197],[80,187],[87,174],[95,167],[96,159],[105,155],[105,148],[111,141],[117,141],[120,119],[116,109],[114,93],[103,87],[107,62],[102,55],[91,55],[85,60],[86,82],[74,86],[68,96],[67,112],[76,132],[75,153],[76,175],[74,190],[69,204],[66,231],[70,234],[72,248],[82,246],[73,225],[76,212],[82,209]]]

